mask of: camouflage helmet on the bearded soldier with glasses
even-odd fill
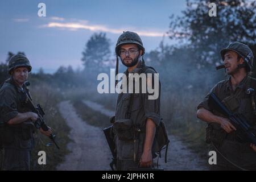
[[[143,43],[139,35],[135,32],[126,31],[121,34],[117,40],[117,44],[115,45],[115,53],[119,56],[119,49],[122,45],[125,44],[137,44],[139,48],[142,49],[142,55],[145,53],[145,48],[143,47]]]

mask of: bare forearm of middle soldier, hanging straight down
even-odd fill
[[[155,123],[152,119],[148,118],[146,122],[146,138],[144,142],[144,150],[143,151],[151,151],[152,144],[154,142],[155,137]]]

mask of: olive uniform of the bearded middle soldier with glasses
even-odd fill
[[[141,73],[144,62],[140,62],[131,73]],[[152,79],[154,80],[153,69],[148,68],[144,73],[152,73]],[[128,74],[128,71],[125,72]],[[118,122],[126,118],[127,111],[129,109],[129,100],[131,94],[120,93],[118,94],[117,107],[115,110],[115,122]],[[148,100],[148,93],[134,93],[133,101],[131,102],[131,115],[130,119],[133,125],[141,129],[141,132],[137,132],[137,140],[134,145],[134,140],[123,141],[119,139],[118,134],[115,133],[115,144],[117,150],[117,169],[127,170],[129,168],[138,167],[139,159],[143,152],[143,144],[145,139],[146,120],[152,119],[156,126],[160,122],[160,83],[159,83],[159,97],[156,100]],[[135,155],[135,161],[134,161]]]

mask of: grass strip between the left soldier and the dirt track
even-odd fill
[[[61,101],[57,90],[50,88],[48,85],[41,84],[31,86],[31,94],[34,104],[42,105],[46,115],[44,117],[48,126],[51,127],[54,134],[56,134],[56,142],[60,147],[58,150],[54,144],[52,146],[46,146],[46,143],[50,139],[40,131],[35,133],[35,148],[31,153],[31,169],[32,170],[55,170],[56,166],[61,162],[64,162],[64,157],[70,151],[67,150],[67,144],[70,141],[69,127],[61,117],[59,110],[57,109],[57,103]],[[46,165],[38,164],[38,152],[46,152]]]

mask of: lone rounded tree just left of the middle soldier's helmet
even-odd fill
[[[106,38],[106,34],[102,32],[93,34],[82,52],[85,68],[92,69],[105,64],[109,60],[110,53],[110,40]]]

